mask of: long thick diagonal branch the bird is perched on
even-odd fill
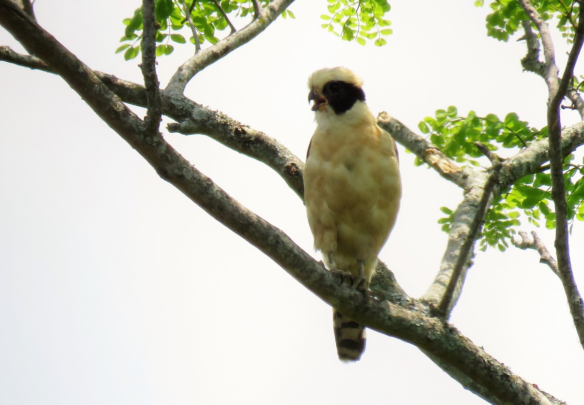
[[[314,261],[279,229],[233,200],[190,165],[161,135],[144,134],[142,121],[106,88],[91,69],[78,61],[24,13],[16,11],[9,0],[0,0],[0,23],[27,50],[38,55],[53,71],[61,75],[102,120],[140,153],[163,179],[262,250],[329,305],[342,310],[357,322],[388,336],[401,338],[432,354],[443,364],[463,374],[466,378],[465,386],[477,390],[477,387],[482,388],[478,394],[488,393],[488,398],[493,403],[551,404],[543,393],[514,375],[450,324],[430,317],[423,310],[423,306],[408,300],[368,300],[360,292],[339,285],[337,278],[326,271],[322,264]],[[109,85],[120,86],[120,83],[121,81],[112,79]],[[131,97],[135,99],[140,98],[142,103],[145,102],[145,91],[141,86],[123,86],[120,94],[124,92],[131,93]],[[173,97],[177,96],[170,94],[166,97],[168,102],[173,102]],[[393,295],[390,294],[389,298],[393,300]]]

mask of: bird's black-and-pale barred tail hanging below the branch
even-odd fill
[[[342,362],[357,361],[365,351],[365,327],[333,308],[336,351]]]

